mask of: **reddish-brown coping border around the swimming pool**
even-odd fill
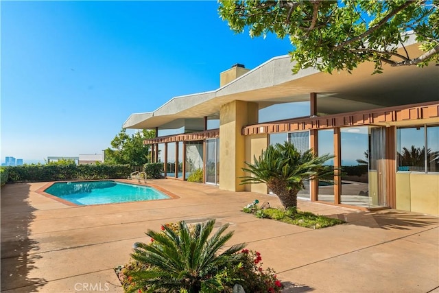
[[[132,202],[149,202],[149,201],[152,201],[152,200],[136,200],[136,201],[130,201],[130,202],[110,202],[108,204],[75,204],[73,202],[69,202],[69,200],[63,200],[62,198],[58,198],[58,196],[54,196],[52,194],[48,194],[47,192],[45,192],[46,189],[48,189],[49,187],[51,187],[55,183],[93,182],[93,181],[116,181],[116,182],[124,183],[124,184],[132,184],[132,185],[140,185],[140,186],[145,186],[145,187],[152,187],[154,189],[157,189],[158,191],[161,191],[166,196],[169,196],[169,198],[160,198],[160,199],[156,199],[156,200],[175,200],[177,198],[180,198],[180,196],[177,196],[176,194],[173,194],[171,191],[168,191],[168,190],[164,189],[163,187],[160,187],[160,186],[152,184],[152,183],[143,183],[143,184],[142,183],[135,183],[135,182],[131,183],[131,182],[126,182],[126,180],[120,180],[120,179],[52,181],[52,182],[49,182],[49,183],[43,185],[43,187],[38,188],[36,190],[36,193],[40,194],[41,196],[45,196],[46,198],[50,198],[51,200],[56,200],[57,202],[60,202],[62,204],[66,204],[69,207],[97,207],[97,206],[108,205],[108,204],[128,204],[128,203],[132,203]],[[156,201],[156,200],[153,200],[153,201]]]

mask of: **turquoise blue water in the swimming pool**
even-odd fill
[[[169,198],[169,196],[152,187],[119,183],[111,180],[54,183],[51,187],[45,189],[45,192],[80,205]]]

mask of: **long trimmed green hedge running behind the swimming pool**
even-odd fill
[[[22,165],[8,167],[8,183],[128,178],[130,165]],[[3,175],[2,175],[3,179]],[[2,181],[3,182],[3,181]]]

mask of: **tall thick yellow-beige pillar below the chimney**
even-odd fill
[[[229,191],[244,191],[240,185],[240,176],[244,176],[242,168],[246,161],[246,137],[241,129],[258,121],[258,104],[252,102],[233,101],[219,109],[219,188]]]

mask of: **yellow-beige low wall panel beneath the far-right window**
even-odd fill
[[[439,174],[396,173],[396,209],[439,215]]]

